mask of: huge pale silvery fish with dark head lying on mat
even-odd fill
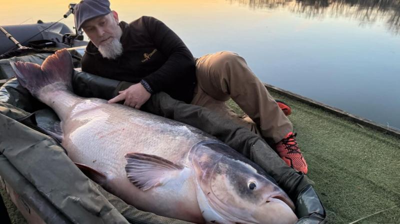
[[[20,84],[60,118],[69,158],[99,172],[97,181],[126,203],[199,224],[297,221],[288,196],[217,139],[173,120],[74,95],[67,50],[41,66],[12,67]]]

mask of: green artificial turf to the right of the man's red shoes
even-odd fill
[[[400,223],[400,138],[270,92],[289,104],[297,142],[329,224]]]

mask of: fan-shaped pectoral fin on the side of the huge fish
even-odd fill
[[[166,184],[183,170],[183,167],[154,155],[127,153],[125,158],[129,181],[143,191]]]

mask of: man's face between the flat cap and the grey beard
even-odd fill
[[[118,15],[114,11],[85,21],[82,29],[96,47],[111,42],[113,38],[119,41],[122,33]]]

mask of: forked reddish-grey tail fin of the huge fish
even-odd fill
[[[57,87],[72,89],[72,58],[66,49],[57,50],[48,56],[41,66],[18,61],[11,62],[11,67],[19,83],[34,96],[38,96],[43,87],[55,83]]]

